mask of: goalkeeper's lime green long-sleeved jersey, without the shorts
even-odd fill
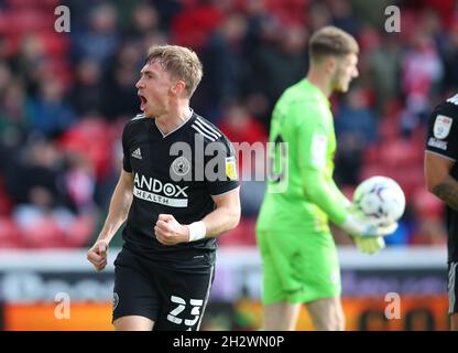
[[[307,79],[287,88],[271,121],[271,176],[259,229],[329,232],[341,224],[349,201],[332,180],[336,136],[330,103]],[[286,158],[285,158],[286,157]]]

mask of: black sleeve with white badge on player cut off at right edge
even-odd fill
[[[429,116],[426,150],[441,157],[458,159],[458,106],[443,103]]]

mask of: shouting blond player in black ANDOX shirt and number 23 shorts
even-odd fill
[[[199,330],[211,284],[216,237],[240,220],[230,141],[189,108],[201,63],[182,46],[153,46],[137,83],[141,110],[122,135],[123,168],[88,260],[115,260],[117,330]]]

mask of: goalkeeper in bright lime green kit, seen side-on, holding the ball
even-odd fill
[[[328,96],[358,76],[358,43],[326,26],[309,41],[307,77],[287,88],[271,121],[270,178],[257,239],[263,266],[264,330],[294,330],[305,303],[317,330],[344,330],[340,267],[328,222],[373,254],[397,224],[362,218],[332,180],[336,137]]]

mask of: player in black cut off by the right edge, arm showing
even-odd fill
[[[458,95],[440,103],[429,117],[425,179],[429,192],[447,206],[448,313],[458,331]]]

